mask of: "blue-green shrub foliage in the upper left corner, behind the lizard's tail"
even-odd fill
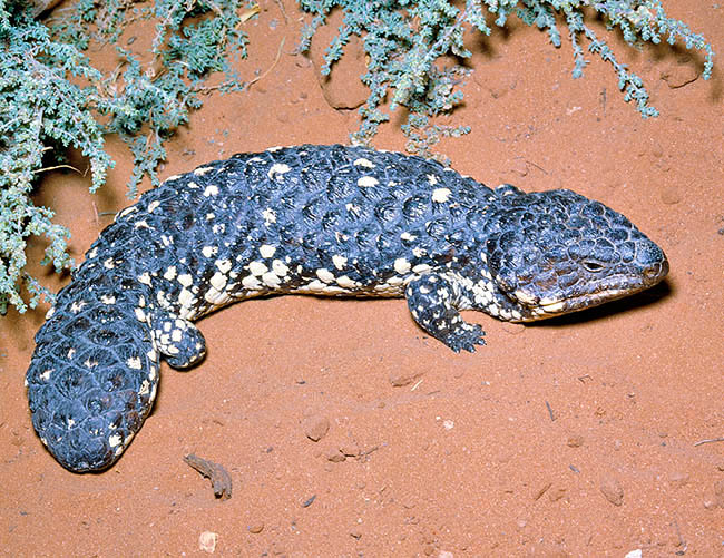
[[[36,306],[52,295],[23,271],[29,236],[48,241],[43,265],[72,265],[68,231],[53,213],[31,199],[33,184],[48,166],[63,164],[68,147],[90,163],[91,192],[106,180],[112,160],[104,150],[106,134],[118,134],[134,155],[129,196],[144,176],[158,183],[164,141],[200,107],[198,94],[211,89],[208,75],[226,80],[215,88],[241,88],[229,66],[246,56],[241,0],[80,0],[70,14],[49,27],[32,19],[29,2],[0,0],[0,313],[8,305],[25,312],[21,287]],[[151,61],[141,63],[117,46],[129,22],[153,18]],[[92,32],[91,30],[96,31]],[[121,63],[104,75],[84,50],[91,42],[116,45]],[[130,39],[129,39],[130,42]],[[146,53],[146,57],[148,55]],[[123,71],[121,71],[123,70]]]

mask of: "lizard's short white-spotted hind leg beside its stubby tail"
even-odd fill
[[[156,350],[174,369],[187,369],[202,361],[206,354],[204,334],[188,320],[164,310],[151,312],[149,317]]]

